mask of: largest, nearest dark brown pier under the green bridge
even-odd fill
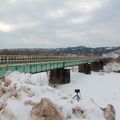
[[[54,69],[50,71],[49,84],[70,83],[70,69]]]

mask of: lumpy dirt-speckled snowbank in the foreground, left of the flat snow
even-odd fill
[[[60,116],[63,113],[64,120],[105,120],[104,112],[93,100],[82,98],[78,102],[72,98],[73,96],[65,95],[59,90],[48,86],[48,79],[45,73],[41,73],[41,80],[46,78],[46,84],[41,85],[38,82],[39,75],[33,76],[31,74],[13,72],[5,78],[11,81],[9,86],[4,86],[5,80],[0,84],[0,87],[5,88],[5,92],[0,98],[0,103],[6,105],[3,108],[9,109],[16,120],[31,120],[33,106],[43,101],[43,98],[50,99],[52,104],[58,106],[59,111],[61,111]],[[31,81],[31,83],[28,81]],[[1,108],[0,111],[2,110]],[[3,117],[0,116],[0,119]]]

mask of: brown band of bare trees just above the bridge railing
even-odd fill
[[[4,49],[0,51],[0,55],[41,55],[41,56],[79,56],[87,58],[101,57],[101,54],[93,53],[79,53],[79,54],[66,54],[57,51],[41,50],[41,49]]]

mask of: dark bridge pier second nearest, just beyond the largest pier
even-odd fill
[[[79,72],[85,74],[91,74],[91,63],[80,64],[79,65]]]

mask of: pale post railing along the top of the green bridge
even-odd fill
[[[79,56],[69,57],[69,56],[2,55],[0,56],[0,64],[15,64],[15,63],[19,64],[19,63],[65,61],[65,60],[78,60],[78,59],[86,59],[86,58]]]

